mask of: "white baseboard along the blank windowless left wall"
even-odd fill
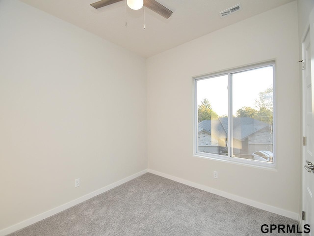
[[[36,216],[34,216],[34,217],[32,217],[32,218],[29,218],[29,219],[27,219],[27,220],[25,220],[25,221],[22,221],[22,222],[20,222],[20,223],[17,223],[17,224],[15,224],[15,225],[12,225],[12,226],[10,226],[10,227],[8,227],[8,228],[5,228],[5,229],[3,229],[3,230],[0,230],[0,236],[5,236],[5,235],[11,234],[11,233],[13,233],[13,232],[15,232],[15,231],[17,231],[17,230],[23,229],[23,228],[25,228],[26,226],[32,225],[32,224],[34,224],[34,223],[36,223],[36,222],[38,222],[38,221],[41,221],[41,220],[43,220],[43,219],[46,219],[46,218],[48,218],[48,217],[50,217],[50,216],[52,216],[52,215],[54,215],[54,214],[57,214],[57,213],[59,213],[59,212],[61,212],[61,211],[63,211],[63,210],[66,210],[66,209],[68,209],[68,208],[70,208],[70,207],[73,207],[73,206],[75,206],[75,205],[78,205],[79,203],[82,203],[82,202],[84,202],[84,201],[86,201],[86,200],[88,200],[88,199],[90,199],[90,198],[93,198],[93,197],[99,195],[99,194],[105,193],[106,191],[108,191],[108,190],[110,190],[110,189],[112,189],[112,188],[114,188],[114,187],[117,187],[117,186],[119,186],[119,185],[121,185],[121,184],[123,184],[123,183],[126,183],[126,182],[130,181],[131,179],[136,178],[136,177],[139,177],[139,176],[141,176],[141,175],[143,175],[143,174],[145,174],[145,173],[147,173],[147,170],[143,170],[143,171],[141,171],[141,172],[138,172],[138,173],[136,173],[136,174],[134,174],[134,175],[131,175],[131,176],[126,177],[126,178],[124,178],[124,179],[121,179],[121,180],[119,180],[119,181],[117,181],[117,182],[114,182],[114,183],[112,183],[112,184],[109,184],[109,185],[107,185],[107,186],[105,186],[105,187],[103,187],[103,188],[101,188],[101,189],[98,189],[98,190],[96,190],[96,191],[94,191],[94,192],[91,192],[91,193],[89,193],[89,194],[86,194],[86,195],[84,195],[84,196],[82,196],[82,197],[80,197],[80,198],[78,198],[78,199],[75,199],[75,200],[73,200],[73,201],[71,201],[71,202],[68,202],[68,203],[66,203],[66,204],[63,204],[63,205],[61,205],[61,206],[59,206],[59,207],[55,207],[55,208],[53,208],[53,209],[51,209],[51,210],[48,210],[48,211],[46,211],[46,212],[44,212],[44,213],[41,213],[41,214],[39,214],[39,215],[36,215]]]

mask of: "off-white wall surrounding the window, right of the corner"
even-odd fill
[[[293,1],[147,59],[149,169],[298,213],[297,24]],[[271,59],[277,70],[276,171],[194,157],[192,77]]]

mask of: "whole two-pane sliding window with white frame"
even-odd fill
[[[196,155],[274,163],[274,71],[268,62],[195,78]]]

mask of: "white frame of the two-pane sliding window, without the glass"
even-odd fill
[[[232,148],[233,148],[233,139],[232,137],[232,79],[231,74],[244,72],[248,70],[258,69],[262,67],[272,66],[273,67],[273,163],[269,162],[261,162],[250,159],[244,159],[239,157],[232,157]],[[212,153],[204,153],[198,151],[198,104],[197,104],[197,81],[205,80],[213,77],[228,75],[228,156],[212,154]],[[206,159],[213,159],[223,162],[231,162],[240,165],[248,165],[253,167],[262,167],[275,169],[276,168],[276,61],[271,60],[263,63],[253,64],[249,66],[238,67],[235,69],[224,70],[218,73],[211,73],[203,76],[193,77],[194,84],[194,120],[193,120],[193,130],[194,130],[194,144],[193,144],[193,155],[195,157],[201,157]]]

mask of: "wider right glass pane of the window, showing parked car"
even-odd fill
[[[230,76],[232,155],[273,162],[273,66]]]

